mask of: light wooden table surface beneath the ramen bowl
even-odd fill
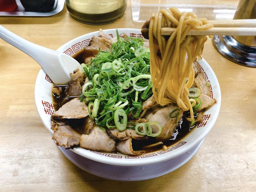
[[[76,22],[66,8],[49,18],[0,18],[0,24],[54,50],[99,27],[141,27],[131,21],[130,6],[123,18],[104,26]],[[211,40],[205,43],[203,57],[220,82],[222,103],[202,147],[172,173],[119,182],[86,173],[62,155],[34,104],[40,66],[0,40],[0,191],[256,191],[256,68],[220,56]]]

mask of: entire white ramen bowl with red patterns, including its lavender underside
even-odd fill
[[[120,28],[118,31],[119,34],[125,33],[130,37],[143,38],[140,29]],[[107,29],[104,32],[112,37],[116,36],[116,29]],[[94,35],[100,36],[99,31],[77,37],[62,45],[58,51],[72,56],[86,47]],[[206,81],[210,82],[211,97],[214,97],[217,103],[206,109],[202,123],[194,127],[185,137],[168,146],[167,150],[162,149],[140,156],[127,156],[86,150],[80,147],[70,150],[65,150],[62,147],[59,147],[59,149],[68,159],[85,171],[114,180],[150,179],[169,173],[183,165],[199,149],[205,136],[214,126],[220,111],[220,85],[216,75],[204,59],[200,60],[199,63],[202,66]],[[54,113],[52,81],[43,69],[39,71],[36,79],[35,103],[38,115],[44,126],[53,134],[50,119]],[[143,174],[141,174],[142,172]]]

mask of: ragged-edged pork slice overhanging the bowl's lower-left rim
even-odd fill
[[[65,125],[63,122],[54,124],[52,140],[55,140],[58,146],[64,146],[66,149],[73,149],[79,145],[80,133],[72,129],[69,125]]]

